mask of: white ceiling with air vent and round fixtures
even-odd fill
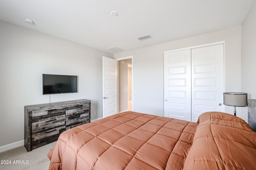
[[[254,0],[0,0],[0,20],[102,51],[241,25]],[[118,12],[118,16],[110,12]],[[34,21],[29,25],[24,19]],[[140,41],[144,35],[153,38]]]

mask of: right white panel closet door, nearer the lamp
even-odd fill
[[[192,120],[206,111],[223,111],[223,44],[191,49]]]

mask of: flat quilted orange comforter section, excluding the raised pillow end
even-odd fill
[[[198,123],[119,113],[63,132],[50,170],[182,169]]]

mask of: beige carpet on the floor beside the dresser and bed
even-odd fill
[[[27,152],[24,146],[1,152],[0,170],[48,170],[50,160],[47,154],[55,143],[44,145],[30,152]],[[11,164],[6,164],[6,161]]]

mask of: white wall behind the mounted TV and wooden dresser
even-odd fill
[[[49,95],[42,95],[43,73],[77,75],[78,93],[53,94],[51,102],[88,99],[91,119],[102,117],[102,56],[113,58],[0,21],[0,147],[24,140],[24,106],[49,102]]]

